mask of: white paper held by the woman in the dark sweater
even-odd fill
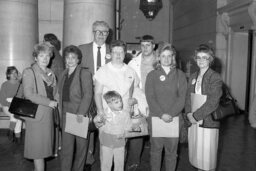
[[[152,117],[152,137],[179,137],[179,117],[166,123],[159,117]]]

